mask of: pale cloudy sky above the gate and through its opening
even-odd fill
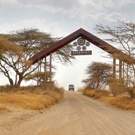
[[[0,0],[0,33],[38,28],[54,37],[64,37],[81,27],[97,35],[96,24],[134,22],[134,13],[135,0]],[[69,83],[82,87],[87,66],[92,61],[104,62],[107,55],[93,45],[91,50],[91,56],[78,56],[72,64],[55,63],[56,83],[65,88]],[[5,82],[0,80],[0,84]]]

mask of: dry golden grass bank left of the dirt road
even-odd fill
[[[41,110],[54,105],[63,98],[63,90],[58,88],[16,88],[0,93],[0,110],[6,106]]]

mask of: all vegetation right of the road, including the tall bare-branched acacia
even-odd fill
[[[117,26],[97,25],[99,34],[109,37],[108,42],[115,43],[119,49],[135,58],[135,24],[119,22]],[[115,55],[112,56],[115,59]],[[123,57],[123,56],[121,56]],[[117,63],[118,64],[118,63]],[[135,64],[123,62],[122,76],[119,65],[113,74],[113,65],[94,62],[87,68],[88,77],[83,80],[85,88],[83,94],[113,106],[135,110]]]

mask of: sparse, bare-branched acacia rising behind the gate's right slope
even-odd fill
[[[135,24],[120,22],[118,26],[97,25],[96,30],[100,34],[109,36],[108,41],[120,46],[120,49],[135,58]],[[135,65],[128,66],[130,83],[135,86]],[[127,69],[125,68],[125,72]]]

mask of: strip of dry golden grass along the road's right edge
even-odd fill
[[[107,91],[84,89],[83,94],[124,110],[135,110],[135,99],[126,96],[113,97]]]

